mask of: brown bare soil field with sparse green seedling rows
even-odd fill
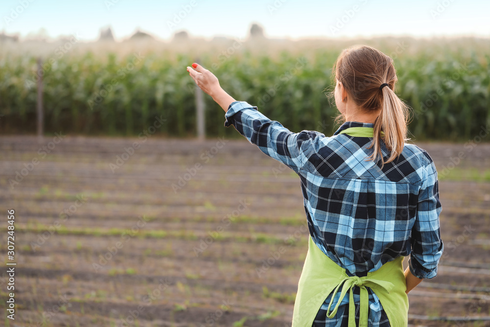
[[[409,323],[490,326],[490,144],[417,145],[441,175],[445,252]],[[244,139],[3,136],[0,184],[17,263],[15,320],[0,271],[1,326],[291,326],[299,178]]]

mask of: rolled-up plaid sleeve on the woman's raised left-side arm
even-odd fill
[[[296,173],[299,173],[303,164],[303,142],[317,136],[325,136],[316,131],[306,130],[293,133],[279,122],[271,121],[260,113],[256,106],[251,106],[245,101],[232,102],[225,118],[224,126],[233,125],[250,143],[259,147],[260,151],[282,162]]]

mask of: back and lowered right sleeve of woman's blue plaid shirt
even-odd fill
[[[344,123],[332,137],[310,132],[312,138],[301,146],[299,176],[312,238],[352,276],[366,276],[412,250],[414,271],[435,276],[441,204],[432,159],[405,144],[400,156],[381,168],[379,161],[366,160],[372,138],[341,134],[349,127],[372,124]],[[388,152],[384,145],[382,151]]]

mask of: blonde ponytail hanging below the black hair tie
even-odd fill
[[[393,83],[392,83],[393,84]],[[403,145],[407,140],[408,106],[388,87],[383,87],[381,109],[379,116],[374,121],[374,138],[369,149],[374,148],[369,160],[376,161],[379,155],[381,167],[385,163],[395,160],[403,151]],[[390,156],[385,161],[381,152],[381,141],[384,141]]]

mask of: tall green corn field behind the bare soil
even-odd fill
[[[34,133],[36,83],[42,77],[46,133],[196,135],[195,86],[186,67],[198,60],[230,95],[257,105],[292,131],[331,135],[338,112],[325,96],[340,51],[368,44],[394,59],[395,92],[413,109],[412,139],[468,140],[490,124],[488,39],[360,41],[218,40],[151,44],[2,44],[0,128]],[[37,60],[42,58],[42,69]],[[205,96],[208,136],[238,137]]]

